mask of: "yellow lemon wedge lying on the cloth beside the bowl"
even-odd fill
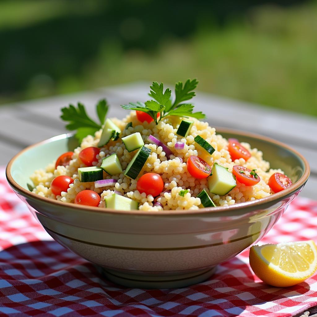
[[[255,245],[250,249],[250,266],[262,281],[288,287],[313,275],[317,268],[317,248],[313,240]]]

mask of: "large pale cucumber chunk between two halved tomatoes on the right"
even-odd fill
[[[236,177],[227,168],[214,163],[212,175],[208,177],[209,191],[224,196],[236,187]]]

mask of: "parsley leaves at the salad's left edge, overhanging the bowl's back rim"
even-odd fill
[[[109,106],[106,99],[101,99],[96,105],[96,112],[100,120],[100,124],[88,117],[85,106],[78,102],[77,108],[70,104],[68,107],[61,109],[61,119],[68,121],[69,123],[65,126],[66,129],[76,131],[76,138],[79,142],[82,141],[84,137],[88,134],[94,135],[94,133],[101,129],[101,126],[104,124]]]

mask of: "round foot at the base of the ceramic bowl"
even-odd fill
[[[215,273],[216,266],[212,268],[203,269],[200,271],[175,274],[168,276],[159,275],[136,275],[126,272],[119,272],[102,269],[104,275],[110,281],[126,286],[128,288],[182,288],[185,286],[193,285],[207,280]]]

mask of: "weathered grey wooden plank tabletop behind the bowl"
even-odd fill
[[[0,107],[0,165],[24,147],[66,132],[59,118],[60,108],[81,101],[89,115],[96,118],[96,101],[106,97],[111,105],[109,117],[123,117],[120,104],[147,100],[149,83],[106,87],[90,92],[18,102]],[[284,142],[302,153],[311,167],[302,196],[316,199],[317,118],[274,108],[198,93],[196,111],[203,111],[211,126],[222,126],[266,135]]]

